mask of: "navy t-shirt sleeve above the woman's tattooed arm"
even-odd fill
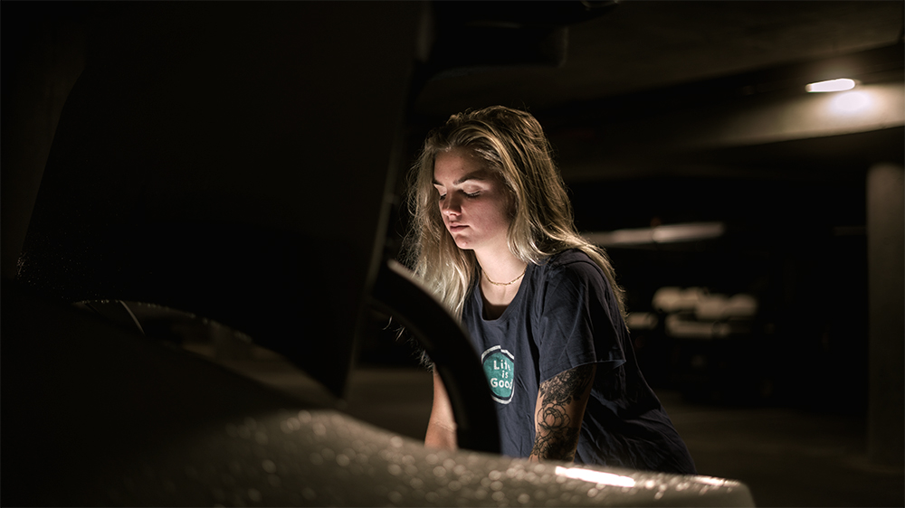
[[[539,381],[587,363],[609,370],[625,362],[615,296],[591,261],[551,269],[539,305]]]

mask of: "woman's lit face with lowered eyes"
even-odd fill
[[[433,163],[433,186],[443,224],[459,249],[508,249],[509,193],[480,157],[462,148],[441,152]]]

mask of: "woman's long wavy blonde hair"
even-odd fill
[[[505,183],[512,203],[508,242],[516,258],[539,264],[557,252],[581,249],[603,270],[624,315],[624,292],[605,250],[575,229],[566,185],[543,128],[529,113],[502,106],[452,115],[424,140],[409,173],[412,226],[403,260],[452,315],[461,319],[465,299],[481,276],[473,251],[459,249],[443,225],[433,187],[436,156],[456,148],[478,155]]]

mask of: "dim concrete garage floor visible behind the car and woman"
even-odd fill
[[[279,357],[227,367],[306,400],[334,403],[315,381]],[[431,375],[412,368],[352,372],[348,414],[398,434],[422,438],[433,396]],[[787,408],[691,404],[658,391],[701,475],[748,484],[758,506],[905,506],[905,472],[872,465],[864,419]]]

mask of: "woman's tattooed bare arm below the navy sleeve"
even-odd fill
[[[530,460],[575,459],[578,432],[581,420],[585,418],[595,372],[596,365],[590,363],[540,383]]]

